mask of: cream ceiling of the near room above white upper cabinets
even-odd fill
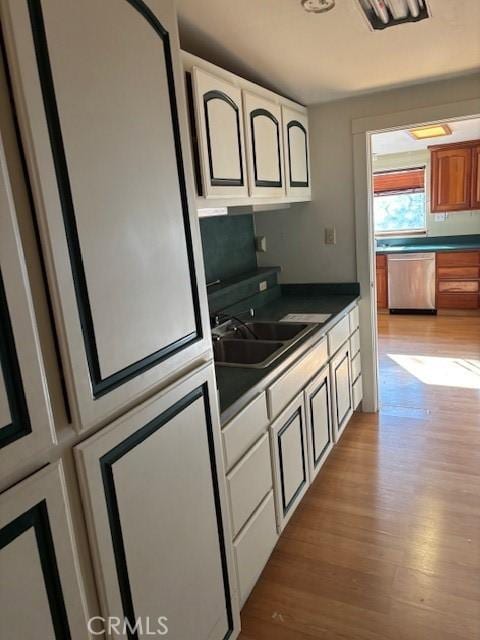
[[[316,104],[480,69],[480,0],[428,0],[432,18],[372,32],[357,0],[177,0],[184,49]]]

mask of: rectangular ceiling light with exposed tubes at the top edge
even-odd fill
[[[374,30],[430,17],[427,0],[358,0],[358,4]]]

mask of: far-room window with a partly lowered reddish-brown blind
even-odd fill
[[[425,232],[425,167],[375,173],[373,216],[376,235]]]

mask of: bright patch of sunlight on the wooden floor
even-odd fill
[[[424,384],[480,389],[480,360],[392,353],[387,355]]]

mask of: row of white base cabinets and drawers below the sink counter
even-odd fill
[[[222,429],[242,607],[362,401],[358,305]]]

